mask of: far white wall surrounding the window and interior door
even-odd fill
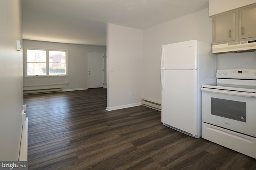
[[[99,52],[106,55],[106,47],[92,45],[77,45],[67,43],[52,43],[46,41],[23,40],[24,57],[26,48],[42,48],[68,50],[68,76],[24,77],[24,89],[49,88],[62,86],[63,91],[85,90],[87,84],[87,52]],[[105,75],[106,78],[106,75]],[[69,82],[68,85],[32,86],[40,84],[58,84]],[[74,84],[72,84],[74,82]],[[104,82],[106,84],[106,80]]]

